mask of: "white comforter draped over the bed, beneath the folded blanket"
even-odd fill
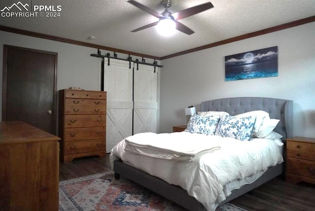
[[[123,140],[111,150],[111,164],[113,167],[113,162],[121,158],[131,166],[170,184],[181,186],[207,210],[212,211],[231,193],[229,188],[226,188],[231,181],[249,176],[256,179],[255,176],[260,176],[269,167],[283,162],[279,149],[282,143],[279,141],[238,141],[220,136],[205,137],[208,141],[220,141],[221,150],[202,153],[195,156],[191,162],[177,162],[129,153],[125,151],[126,141]],[[191,140],[191,144],[194,145],[194,140]]]

